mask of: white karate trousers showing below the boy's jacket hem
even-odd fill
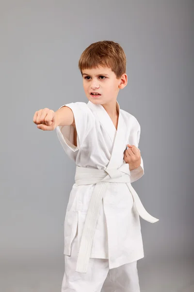
[[[78,235],[72,242],[71,256],[65,255],[62,292],[140,292],[137,261],[109,269],[109,260],[90,258],[87,273],[75,272]]]

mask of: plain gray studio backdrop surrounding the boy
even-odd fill
[[[194,1],[0,1],[0,291],[61,291],[64,219],[75,165],[36,110],[85,101],[78,60],[119,42],[121,109],[141,125],[147,211],[141,292],[194,291]],[[193,288],[192,288],[193,287]]]

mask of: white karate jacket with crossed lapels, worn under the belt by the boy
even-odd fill
[[[77,146],[73,145],[73,126],[57,127],[57,136],[66,154],[75,161],[78,168],[79,166],[101,170],[125,168],[127,169],[125,176],[129,177],[130,183],[142,177],[144,174],[142,158],[141,165],[132,171],[129,171],[129,164],[124,161],[127,144],[138,147],[140,139],[140,125],[133,115],[121,110],[117,102],[119,118],[116,130],[110,116],[101,105],[88,101],[87,104],[75,102],[65,106],[74,113]],[[144,257],[139,216],[152,223],[158,221],[146,212],[130,183],[120,181],[107,183],[106,193],[100,201],[95,233],[91,239],[89,257],[108,258],[110,269]],[[133,194],[135,193],[133,196],[129,186]],[[70,192],[64,224],[64,254],[67,256],[71,255],[71,243],[77,227],[80,248],[84,222],[94,188],[95,183],[81,185],[74,183]],[[89,240],[86,231],[85,237]],[[84,259],[84,255],[81,256]]]

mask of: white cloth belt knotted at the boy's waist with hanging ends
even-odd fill
[[[106,170],[77,166],[75,182],[77,185],[96,183],[83,226],[76,272],[87,272],[101,201],[106,193],[108,183],[126,183],[135,202],[138,214],[148,222],[154,223],[159,221],[159,219],[154,218],[146,211],[138,194],[132,187],[129,164],[123,164],[118,169],[107,168]]]

